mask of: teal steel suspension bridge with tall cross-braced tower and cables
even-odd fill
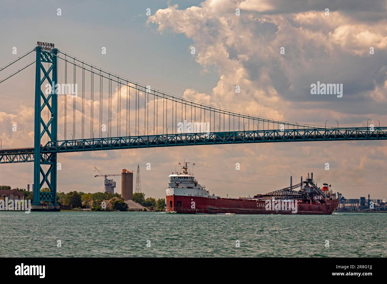
[[[58,153],[191,145],[387,139],[387,127],[380,125],[332,128],[299,124],[243,114],[177,97],[98,68],[53,48],[51,44],[38,43],[34,49],[11,61],[0,71],[33,52],[36,57],[32,62],[5,77],[0,83],[35,64],[34,147],[2,146],[0,163],[34,162],[35,209],[42,209],[41,201],[57,207]],[[60,73],[58,66],[64,67]],[[71,77],[72,80],[69,80]],[[63,83],[59,84],[59,81]],[[61,121],[58,113],[63,114]],[[58,126],[61,132],[58,132]],[[68,139],[69,136],[71,139]],[[50,192],[40,191],[45,186]]]

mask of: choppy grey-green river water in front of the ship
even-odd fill
[[[0,228],[3,257],[387,256],[384,213],[0,212]]]

